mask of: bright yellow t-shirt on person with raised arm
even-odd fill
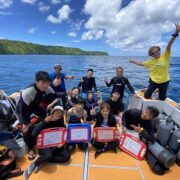
[[[169,60],[171,53],[164,52],[157,59],[150,59],[143,62],[145,68],[149,69],[150,78],[155,83],[164,83],[170,80],[169,76]]]

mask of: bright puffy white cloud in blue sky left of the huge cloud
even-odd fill
[[[62,21],[66,21],[69,19],[69,14],[71,13],[71,9],[68,5],[63,5],[57,12],[57,17],[54,17],[53,15],[49,15],[47,17],[47,21],[54,23],[54,24],[60,24]]]

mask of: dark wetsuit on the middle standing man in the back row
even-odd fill
[[[93,88],[95,89],[95,91],[97,91],[96,81],[94,77],[87,78],[86,76],[84,76],[82,79],[84,82],[83,83],[79,82],[78,87],[80,88],[82,86],[83,93],[87,93]]]

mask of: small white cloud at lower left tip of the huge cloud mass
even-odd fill
[[[103,30],[90,30],[82,34],[82,40],[98,40],[103,37]]]

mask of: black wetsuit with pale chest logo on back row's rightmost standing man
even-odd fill
[[[124,89],[126,85],[129,88],[129,90],[134,94],[134,88],[131,86],[129,80],[125,77],[120,77],[120,78],[118,78],[117,76],[113,77],[109,83],[106,83],[106,85],[107,87],[113,85],[112,93],[114,92],[114,90],[118,90],[120,94],[120,100],[123,100]]]

